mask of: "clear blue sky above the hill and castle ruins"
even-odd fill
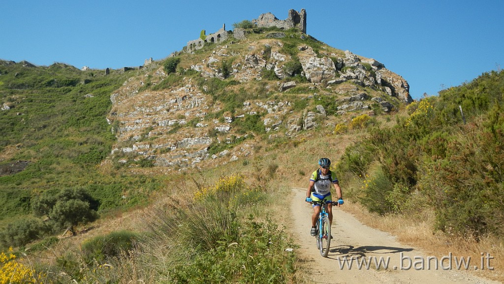
[[[382,62],[424,92],[504,68],[504,1],[2,0],[0,59],[118,69],[161,60],[200,31],[281,20],[306,9],[306,32],[334,48]]]

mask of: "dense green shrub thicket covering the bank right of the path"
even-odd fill
[[[369,174],[371,181],[360,193],[371,211],[432,210],[435,228],[447,233],[501,235],[502,89],[504,72],[492,71],[443,90],[439,97],[412,103],[407,118],[397,117],[396,126],[367,126],[369,136],[348,147],[337,168],[345,176],[365,176],[370,168],[380,168]]]

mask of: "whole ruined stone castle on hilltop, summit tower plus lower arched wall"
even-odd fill
[[[261,14],[257,19],[251,21],[257,27],[269,28],[278,27],[280,29],[290,29],[298,28],[303,33],[306,33],[306,10],[301,9],[301,12],[295,11],[293,9],[289,10],[289,15],[285,20],[279,20],[275,15],[271,13]],[[205,35],[205,39],[198,38],[187,42],[184,48],[185,52],[194,52],[202,49],[207,42],[219,43],[226,40],[230,35],[233,35],[237,39],[242,39],[245,37],[245,32],[242,29],[235,29],[235,31],[227,31],[226,24],[222,25],[222,28],[215,33]]]

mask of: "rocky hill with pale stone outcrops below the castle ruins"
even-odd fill
[[[412,101],[407,82],[382,63],[296,28],[249,30],[170,60],[172,72],[151,63],[111,96],[112,152],[123,163],[127,154],[168,171],[206,167],[250,155],[258,140],[274,144]]]

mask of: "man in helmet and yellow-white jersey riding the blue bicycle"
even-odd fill
[[[343,204],[343,195],[341,193],[341,187],[336,178],[336,174],[330,170],[331,160],[328,158],[322,158],[319,160],[320,168],[314,171],[310,176],[310,181],[308,184],[308,190],[306,191],[305,201],[311,203],[311,201],[322,201],[326,199],[328,201],[327,213],[329,214],[329,222],[333,223],[333,205],[331,197],[331,183],[334,185],[336,190],[336,196],[338,197],[338,206]],[[313,215],[311,216],[311,229],[310,235],[314,236],[317,234],[317,218],[319,217],[321,211],[321,206],[319,204],[313,205]]]

